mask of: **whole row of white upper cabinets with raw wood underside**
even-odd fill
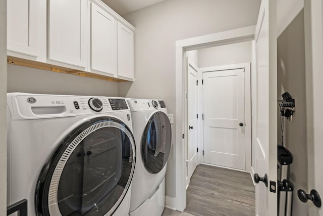
[[[102,1],[8,0],[7,16],[9,63],[134,80],[135,28]]]

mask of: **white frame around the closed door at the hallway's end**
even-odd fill
[[[251,63],[240,63],[240,64],[230,64],[230,65],[221,65],[221,66],[212,66],[212,67],[203,67],[199,68],[199,72],[202,74],[204,72],[211,72],[211,71],[221,71],[221,70],[234,70],[234,69],[242,69],[244,68],[244,123],[245,123],[245,170],[246,172],[251,173],[251,75],[250,75],[250,69],[251,69]],[[200,93],[198,97],[198,103],[202,104],[202,112],[203,112],[203,92]],[[202,146],[199,146],[202,150],[204,150],[204,143],[203,143],[203,130],[204,130],[204,124],[202,118],[200,119],[202,128],[201,128],[201,137],[198,139],[198,144],[201,144]],[[199,163],[204,163],[204,158],[202,155],[202,151],[199,152]],[[226,167],[229,169],[234,169],[230,167]],[[240,171],[243,171],[243,169],[237,169]]]

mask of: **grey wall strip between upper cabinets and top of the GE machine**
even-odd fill
[[[8,92],[118,96],[118,83],[18,65],[8,65]]]

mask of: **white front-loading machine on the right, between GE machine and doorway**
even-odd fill
[[[172,129],[163,100],[128,99],[137,160],[130,216],[160,216],[165,208],[165,175]]]

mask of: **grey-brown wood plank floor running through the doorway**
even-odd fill
[[[250,174],[198,165],[187,188],[185,212],[170,209],[163,212],[163,216],[191,214],[255,215],[255,187]]]

